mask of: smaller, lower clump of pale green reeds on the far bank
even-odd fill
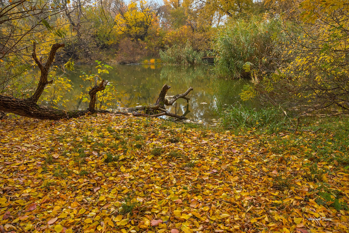
[[[189,41],[183,45],[173,45],[165,51],[160,51],[161,60],[164,63],[176,65],[200,65],[203,64],[204,52],[195,51]]]

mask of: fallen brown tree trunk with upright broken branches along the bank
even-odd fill
[[[51,48],[51,51],[49,53],[46,63],[42,64],[41,60],[37,58],[36,43],[35,42],[33,43],[32,57],[41,71],[38,86],[35,90],[35,93],[26,99],[20,99],[13,96],[0,94],[0,117],[1,118],[4,115],[3,112],[14,113],[20,116],[25,116],[30,118],[50,119],[50,120],[69,119],[69,118],[79,117],[85,114],[90,114],[95,112],[124,114],[124,115],[129,115],[130,114],[129,112],[132,112],[133,115],[135,116],[159,117],[159,116],[166,115],[166,116],[176,117],[179,119],[185,119],[185,116],[178,116],[176,114],[172,114],[168,112],[165,109],[165,105],[172,105],[174,101],[178,100],[179,98],[183,98],[188,102],[189,98],[186,97],[186,95],[191,90],[193,90],[193,88],[190,87],[185,93],[175,95],[170,100],[167,100],[165,96],[167,91],[170,89],[170,86],[167,84],[165,84],[162,87],[159,97],[154,105],[129,108],[127,112],[95,110],[96,94],[99,91],[104,90],[106,85],[108,84],[108,80],[102,80],[100,83],[98,83],[97,78],[95,80],[94,87],[92,87],[92,89],[89,91],[90,104],[88,109],[86,110],[65,111],[65,110],[54,109],[54,108],[39,105],[37,102],[40,96],[42,95],[46,85],[49,83],[52,83],[52,80],[50,81],[47,80],[47,76],[50,70],[50,66],[53,63],[55,53],[59,48],[62,48],[62,47],[64,47],[64,43],[54,44]],[[146,109],[151,109],[153,113],[152,114],[139,113],[140,111],[144,111]]]

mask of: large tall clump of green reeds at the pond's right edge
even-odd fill
[[[264,17],[231,20],[214,37],[214,72],[223,78],[248,78],[252,72],[274,72],[278,20]]]

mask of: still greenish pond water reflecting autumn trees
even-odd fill
[[[167,95],[172,96],[184,93],[189,87],[194,90],[188,97],[189,103],[184,99],[177,100],[177,107],[168,106],[167,109],[178,115],[187,113],[186,117],[192,121],[210,122],[217,119],[218,105],[231,105],[241,102],[239,93],[248,80],[224,80],[212,77],[208,72],[208,65],[202,66],[169,66],[169,65],[112,65],[109,74],[103,74],[116,85],[118,101],[113,108],[135,107],[156,102],[162,86],[167,83],[171,86]],[[95,65],[75,65],[75,71],[69,73],[68,78],[73,82],[73,91],[64,98],[69,100],[66,108],[69,110],[86,109],[87,102],[75,100],[74,95],[81,91],[79,85],[83,84],[79,77],[81,72],[96,73]],[[253,103],[245,102],[251,105]],[[176,105],[176,103],[174,104]]]

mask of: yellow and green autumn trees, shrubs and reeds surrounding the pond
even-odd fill
[[[214,58],[213,78],[251,79],[242,101],[282,105],[294,115],[348,113],[344,2],[1,2],[0,92],[31,96],[40,68],[31,56],[33,42],[38,57],[59,42],[65,46],[56,64],[147,60],[151,65],[161,58],[198,65]],[[55,66],[49,74],[52,83],[46,86],[54,90],[43,98],[51,106],[64,105],[58,92],[70,89],[64,83],[68,67]]]

